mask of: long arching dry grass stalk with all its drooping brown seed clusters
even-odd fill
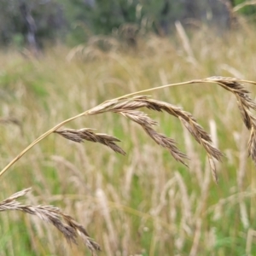
[[[101,133],[93,133],[90,128],[84,128],[80,130],[58,130],[62,125],[67,124],[73,119],[77,119],[81,116],[86,115],[96,115],[99,113],[119,113],[127,119],[131,119],[131,121],[136,122],[138,125],[143,127],[143,130],[146,131],[149,137],[151,137],[155,143],[159,144],[163,148],[167,148],[172,154],[173,158],[183,165],[187,166],[184,162],[184,159],[188,159],[186,154],[183,154],[177,147],[174,140],[169,137],[166,137],[164,134],[160,134],[157,131],[154,131],[153,126],[157,125],[153,119],[149,118],[147,113],[137,111],[138,108],[148,108],[154,111],[165,111],[176,118],[180,119],[182,124],[188,129],[191,135],[195,138],[195,140],[202,145],[203,148],[207,151],[207,156],[209,159],[210,166],[212,168],[212,176],[215,182],[218,182],[218,177],[216,174],[215,165],[213,159],[221,160],[222,153],[212,145],[212,139],[207,134],[206,131],[196,122],[196,119],[192,116],[191,113],[183,111],[182,108],[177,108],[168,102],[160,102],[154,99],[150,99],[148,96],[133,96],[137,94],[141,94],[144,92],[152,91],[152,90],[160,90],[162,88],[184,85],[184,84],[195,84],[195,83],[216,83],[222,86],[225,90],[231,91],[237,100],[238,107],[241,112],[242,119],[247,126],[247,129],[251,131],[251,136],[248,142],[248,152],[249,155],[252,156],[252,159],[256,163],[256,138],[255,138],[255,118],[253,114],[250,112],[250,108],[253,110],[256,109],[256,103],[253,102],[253,99],[249,96],[249,91],[244,87],[242,82],[249,84],[256,84],[256,82],[236,79],[236,78],[225,78],[225,77],[211,77],[207,79],[197,79],[183,83],[177,84],[167,84],[157,88],[137,91],[131,93],[129,95],[121,96],[119,98],[115,98],[113,100],[108,100],[107,102],[103,102],[102,104],[96,106],[95,108],[91,108],[83,113],[79,113],[78,115],[64,120],[55,127],[51,128],[49,131],[46,131],[42,136],[38,137],[33,143],[31,143],[27,148],[25,148],[17,157],[12,160],[9,165],[5,166],[3,170],[0,172],[0,177],[6,172],[10,166],[15,164],[17,160],[23,154],[32,148],[34,145],[42,141],[45,137],[49,136],[52,132],[60,134],[62,137],[67,138],[68,140],[72,140],[77,143],[81,143],[84,140],[94,142],[94,143],[102,143],[107,145],[109,148],[112,148],[113,151],[118,152],[120,154],[125,154],[125,151],[122,148],[119,148],[116,143],[119,142],[119,139],[116,137],[108,136],[107,134]],[[133,97],[131,97],[133,96]]]

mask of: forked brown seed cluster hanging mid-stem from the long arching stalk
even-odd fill
[[[103,108],[104,106],[104,108]],[[125,118],[131,119],[132,121],[136,122],[138,125],[141,125],[143,127],[143,130],[146,131],[149,137],[151,137],[155,143],[159,144],[163,148],[167,148],[170,153],[172,154],[173,158],[181,163],[183,165],[187,166],[184,160],[187,160],[188,157],[186,154],[183,154],[176,146],[176,143],[173,139],[166,137],[164,134],[160,134],[157,131],[153,129],[154,125],[157,125],[157,122],[153,119],[148,117],[147,113],[137,111],[138,108],[148,108],[149,110],[154,110],[158,112],[165,111],[166,113],[169,113],[182,122],[182,124],[189,130],[191,135],[195,138],[195,140],[200,143],[203,148],[206,149],[207,155],[209,157],[209,161],[212,162],[210,159],[214,158],[216,160],[221,160],[222,153],[218,150],[218,148],[215,148],[212,145],[212,139],[210,135],[207,133],[207,131],[204,131],[204,129],[199,125],[195,118],[192,116],[191,113],[183,111],[182,108],[178,108],[170,103],[167,102],[161,102],[154,99],[149,99],[148,96],[133,96],[130,98],[122,97],[119,99],[119,101],[113,100],[113,102],[108,101],[105,104],[102,104],[102,108],[98,108],[98,112],[94,110],[93,114],[97,113],[104,113],[104,112],[113,112],[113,113],[119,113]],[[91,113],[90,113],[91,114]],[[85,132],[85,131],[84,131]],[[88,133],[89,131],[86,130]],[[73,138],[70,134],[67,136],[67,131],[62,131],[62,136],[70,137],[69,139],[75,139],[76,141],[80,142],[83,139],[90,140],[90,141],[96,141],[95,134],[93,134],[93,137],[88,138],[88,136],[84,136],[79,134],[78,131],[75,132],[75,137]],[[78,138],[77,138],[78,137]],[[98,140],[97,142],[100,142]],[[106,144],[106,143],[103,143]],[[217,177],[215,167],[212,166],[212,172],[213,177]],[[217,182],[217,178],[214,178],[214,180]]]

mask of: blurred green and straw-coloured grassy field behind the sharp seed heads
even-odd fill
[[[256,81],[256,33],[218,38],[148,37],[137,49],[115,42],[49,48],[38,59],[1,52],[0,163],[3,168],[37,137],[97,104],[161,84],[213,75]],[[247,85],[255,98],[256,88]],[[224,153],[213,182],[207,154],[174,117],[148,112],[157,131],[189,155],[189,168],[160,148],[139,125],[114,113],[79,118],[65,128],[94,128],[121,140],[125,156],[99,143],[51,134],[1,177],[1,200],[32,187],[24,203],[54,205],[83,224],[99,255],[255,255],[256,167],[247,158],[249,132],[236,97],[215,84],[188,84],[148,93],[193,113]],[[22,212],[1,212],[0,255],[90,255],[69,247],[49,224]]]

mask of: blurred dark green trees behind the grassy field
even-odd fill
[[[130,24],[137,30],[161,36],[172,33],[173,24],[196,21],[230,28],[230,9],[243,0],[1,0],[0,44],[29,44],[61,40],[86,42],[93,34],[112,34]],[[254,6],[241,9],[255,15]],[[193,22],[192,22],[193,21]]]

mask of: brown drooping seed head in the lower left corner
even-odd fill
[[[52,206],[22,205],[19,201],[16,201],[16,199],[26,195],[28,191],[30,191],[30,189],[23,189],[0,202],[0,212],[21,211],[36,215],[45,222],[53,224],[57,230],[61,231],[69,243],[77,244],[78,236],[80,236],[83,239],[84,244],[90,249],[92,255],[96,255],[96,251],[101,250],[101,247],[96,241],[91,240],[84,227],[69,215],[61,212],[61,209]]]

